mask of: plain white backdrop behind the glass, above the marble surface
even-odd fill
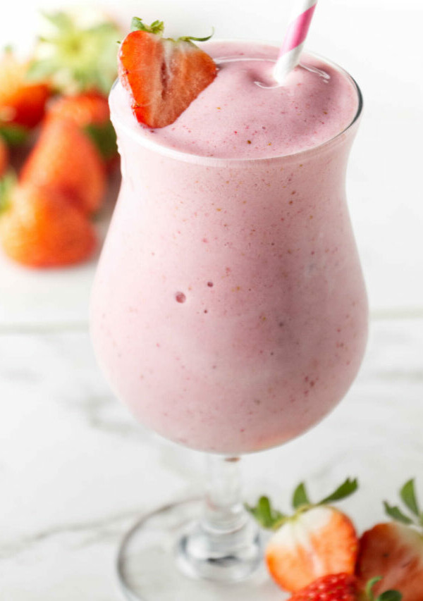
[[[67,6],[71,4],[80,5]],[[4,6],[0,45],[12,42],[23,48],[30,46],[39,7],[56,9],[58,3],[20,0]],[[107,0],[97,6],[125,27],[137,15],[147,22],[165,20],[169,35],[207,35],[214,26],[216,37],[278,42],[292,3]],[[364,94],[364,118],[348,173],[348,198],[376,316],[423,314],[422,30],[420,0],[320,0],[307,39],[309,49],[346,68]],[[8,266],[4,270],[10,271]],[[19,285],[16,273],[10,277],[13,285]],[[90,274],[84,271],[70,278],[82,315]],[[78,296],[75,282],[79,280],[85,284]],[[7,296],[7,291],[0,292]],[[72,308],[69,311],[73,314]],[[11,307],[12,317],[14,312],[16,308]]]

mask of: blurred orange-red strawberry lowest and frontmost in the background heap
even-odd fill
[[[66,194],[28,183],[6,182],[0,215],[4,252],[30,267],[66,266],[85,261],[95,247],[94,229]]]

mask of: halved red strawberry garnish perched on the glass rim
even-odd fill
[[[140,123],[163,128],[173,123],[216,77],[216,64],[192,40],[162,37],[164,25],[149,27],[133,19],[118,55],[119,79],[130,92],[133,113]]]

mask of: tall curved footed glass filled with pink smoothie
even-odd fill
[[[130,599],[176,601],[195,586],[205,601],[221,591],[176,571],[178,593],[154,588],[142,562],[152,532],[167,571],[168,529],[183,527],[175,549],[185,574],[252,574],[262,552],[241,502],[238,457],[305,432],[355,378],[367,338],[345,200],[362,108],[355,89],[357,114],[336,137],[243,160],[154,144],[119,118],[120,85],[111,93],[123,181],[92,292],[94,348],[136,419],[209,454],[205,504],[166,507],[125,538],[119,574]],[[257,588],[239,590],[224,597],[257,598]]]

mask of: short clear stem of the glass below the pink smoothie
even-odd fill
[[[233,533],[248,516],[242,501],[239,457],[207,455],[206,498],[202,527],[208,532]]]

